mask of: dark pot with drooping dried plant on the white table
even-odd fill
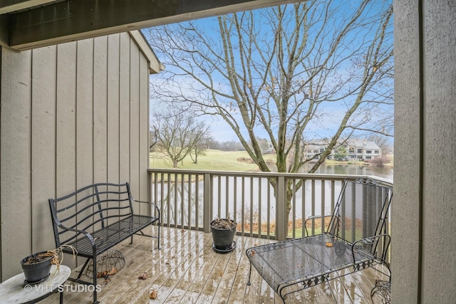
[[[73,251],[73,258],[76,256],[76,248],[69,245],[62,245],[50,251],[33,253],[21,260],[22,271],[26,277],[26,283],[40,283],[48,278],[51,266],[56,265],[56,272],[60,270],[63,261],[63,248],[68,247]]]

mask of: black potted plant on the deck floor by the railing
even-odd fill
[[[217,252],[229,252],[236,248],[233,241],[237,223],[232,219],[214,219],[211,221],[212,248]]]

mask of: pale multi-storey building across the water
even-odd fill
[[[316,159],[323,153],[328,147],[327,142],[315,142],[306,145],[304,148],[304,157],[306,159]],[[382,156],[382,150],[378,147],[375,142],[368,140],[348,140],[343,147],[347,150],[347,160],[368,160]],[[332,150],[331,154],[328,155],[328,159],[333,159],[336,154],[336,150]]]

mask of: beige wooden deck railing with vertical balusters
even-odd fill
[[[148,172],[150,197],[160,208],[163,226],[209,232],[213,219],[229,217],[238,223],[237,234],[277,240],[303,236],[304,220],[309,216],[330,215],[343,179],[353,177],[185,169]],[[380,177],[366,178],[390,184]],[[287,219],[289,182],[291,209]],[[389,229],[388,224],[386,227]],[[321,231],[315,222],[308,229],[312,234]]]

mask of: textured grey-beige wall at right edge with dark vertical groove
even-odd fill
[[[393,303],[456,299],[456,2],[395,0]]]

